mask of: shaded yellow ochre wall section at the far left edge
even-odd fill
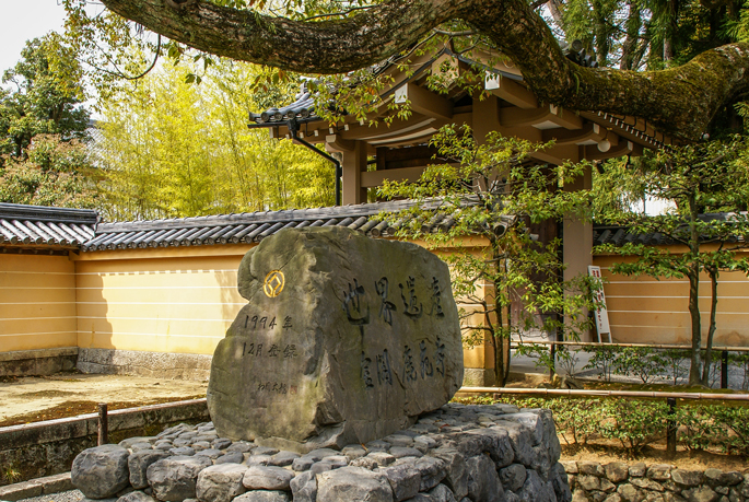
[[[75,347],[77,338],[74,262],[0,255],[0,352]]]

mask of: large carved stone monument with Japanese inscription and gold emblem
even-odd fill
[[[213,355],[223,436],[297,452],[366,443],[447,402],[463,382],[447,266],[346,227],[284,230],[245,255],[242,308]]]

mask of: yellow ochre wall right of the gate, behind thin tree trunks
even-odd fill
[[[595,256],[593,264],[608,281],[604,284],[613,341],[622,343],[691,343],[687,279],[615,276],[609,271],[619,256]],[[749,346],[749,280],[742,272],[721,272],[715,332],[716,346]],[[710,279],[700,280],[703,340],[710,323]]]

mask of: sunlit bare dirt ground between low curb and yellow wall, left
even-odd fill
[[[206,397],[206,382],[63,373],[0,378],[0,427]]]

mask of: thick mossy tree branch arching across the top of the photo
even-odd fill
[[[572,63],[527,0],[387,0],[342,20],[303,22],[204,1],[103,0],[174,40],[233,59],[303,73],[341,73],[403,51],[440,24],[463,19],[523,72],[538,98],[569,109],[646,119],[699,139],[714,115],[749,87],[749,44],[707,50],[667,70],[633,72]]]

